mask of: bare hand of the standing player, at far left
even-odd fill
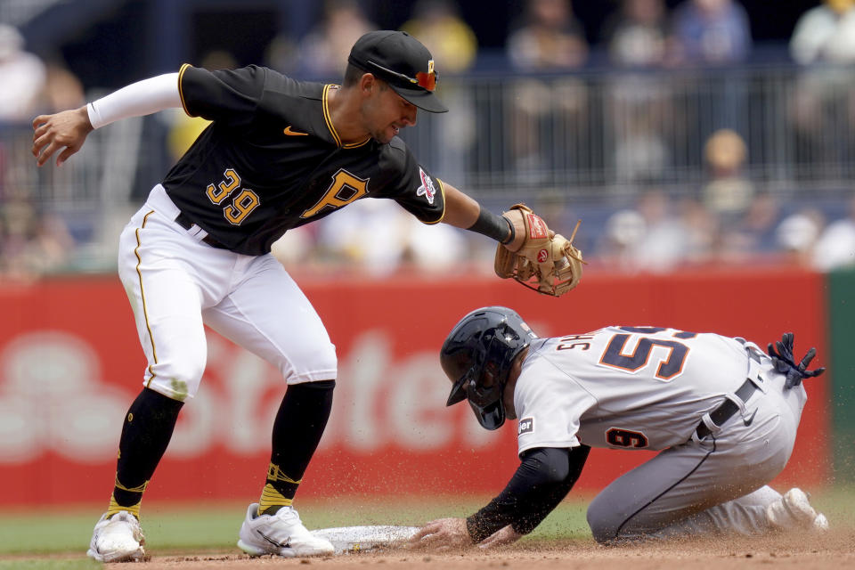
[[[53,115],[39,115],[33,119],[33,156],[41,167],[62,149],[56,157],[56,166],[61,166],[69,157],[80,150],[86,136],[93,131],[89,114],[83,106],[75,110],[63,110]]]

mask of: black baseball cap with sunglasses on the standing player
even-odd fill
[[[347,62],[386,81],[396,94],[431,113],[448,110],[434,94],[436,69],[428,48],[406,32],[383,29],[356,40]]]

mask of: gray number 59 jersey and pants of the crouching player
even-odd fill
[[[784,382],[741,338],[607,327],[539,339],[514,391],[519,453],[664,450],[591,502],[599,542],[763,532],[766,507],[781,498],[766,484],[789,460],[807,398]],[[718,426],[726,401],[737,412]]]

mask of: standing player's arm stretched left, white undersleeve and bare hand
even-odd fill
[[[177,73],[167,73],[143,79],[80,109],[34,118],[33,156],[37,166],[43,166],[54,152],[62,149],[56,158],[56,166],[61,166],[80,150],[89,133],[120,118],[141,117],[180,107],[178,77]]]

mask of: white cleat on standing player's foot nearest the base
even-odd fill
[[[240,550],[249,556],[275,554],[285,558],[332,554],[332,543],[310,533],[293,507],[282,507],[275,515],[258,515],[258,503],[247,509],[240,525]]]

